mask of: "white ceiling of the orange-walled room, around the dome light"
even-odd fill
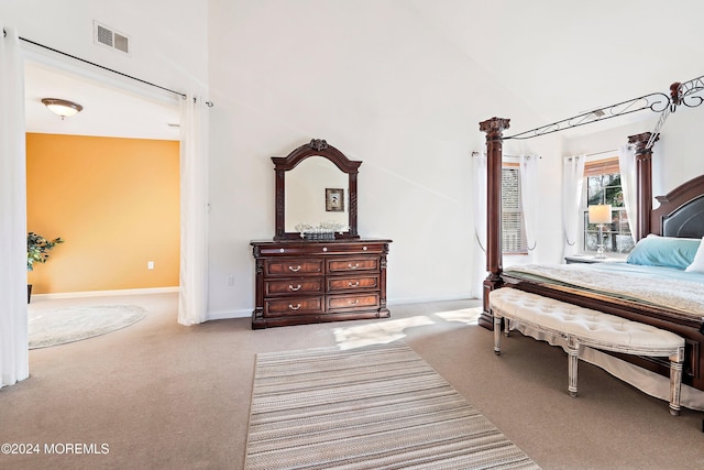
[[[107,79],[109,81],[109,79]],[[148,86],[145,86],[148,87]],[[180,130],[176,96],[148,97],[106,80],[79,76],[47,65],[25,62],[25,123],[28,132],[178,140]],[[163,95],[163,94],[157,94]],[[82,111],[62,120],[42,98],[77,102]]]

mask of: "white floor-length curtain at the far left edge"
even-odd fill
[[[0,386],[30,376],[26,306],[24,63],[13,28],[0,36]]]

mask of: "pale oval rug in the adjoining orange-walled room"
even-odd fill
[[[81,305],[30,311],[30,349],[80,341],[128,327],[146,316],[136,305]]]

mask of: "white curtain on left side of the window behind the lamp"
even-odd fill
[[[564,231],[563,254],[565,256],[580,251],[578,240],[580,218],[582,217],[585,160],[584,155],[575,155],[565,157],[562,163],[562,228]]]

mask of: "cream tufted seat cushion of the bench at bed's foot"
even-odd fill
[[[638,348],[676,348],[684,343],[678,335],[615,315],[579,307],[515,288],[490,294],[490,305],[499,316],[540,325],[584,342],[610,342]]]

